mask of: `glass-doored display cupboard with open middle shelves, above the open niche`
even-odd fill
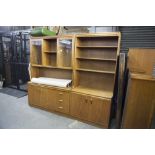
[[[73,35],[31,37],[31,64],[51,68],[72,68]]]

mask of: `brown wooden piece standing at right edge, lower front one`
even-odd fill
[[[122,128],[150,128],[155,106],[155,79],[131,74],[128,82]]]

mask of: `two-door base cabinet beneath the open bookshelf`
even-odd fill
[[[108,127],[111,100],[78,93],[71,94],[72,116]]]

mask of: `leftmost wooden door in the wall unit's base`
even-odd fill
[[[28,100],[30,105],[40,105],[41,88],[28,84]]]

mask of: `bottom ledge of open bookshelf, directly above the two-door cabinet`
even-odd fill
[[[92,89],[92,88],[86,88],[82,86],[78,86],[72,89],[72,91],[104,97],[104,98],[112,98],[113,92],[112,91],[105,91],[105,90],[98,90],[98,89]]]

